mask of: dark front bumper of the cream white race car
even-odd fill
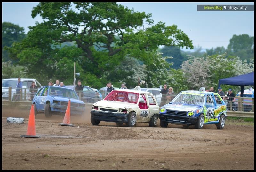
[[[128,122],[128,114],[124,113],[112,113],[112,112],[101,112],[91,110],[91,117],[99,121],[107,122]]]

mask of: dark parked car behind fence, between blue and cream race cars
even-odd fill
[[[71,88],[75,90],[75,86],[66,86],[67,88]],[[76,91],[77,95],[79,96],[79,99],[81,101],[84,101],[85,103],[95,103],[96,101],[99,101],[98,96],[96,95],[96,92],[92,90],[89,86],[84,86],[83,91],[81,92],[81,97],[79,95],[81,91]]]

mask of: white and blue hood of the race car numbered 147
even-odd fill
[[[178,104],[167,104],[167,105],[164,105],[162,108],[188,112],[188,111],[194,111],[201,107],[202,106],[199,106],[199,105],[188,105],[188,104],[178,103]]]

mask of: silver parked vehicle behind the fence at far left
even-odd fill
[[[29,88],[32,82],[35,82],[37,88],[41,88],[41,84],[33,78],[21,78],[22,82],[22,99],[27,100],[30,99]],[[16,93],[16,84],[18,82],[18,78],[8,78],[2,79],[2,99],[9,99],[9,87],[12,87],[11,100],[13,101],[13,94]],[[26,90],[26,94],[25,94]]]

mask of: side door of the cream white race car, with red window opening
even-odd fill
[[[137,115],[137,121],[148,121],[148,104],[146,94],[140,94],[139,98],[139,110]]]

